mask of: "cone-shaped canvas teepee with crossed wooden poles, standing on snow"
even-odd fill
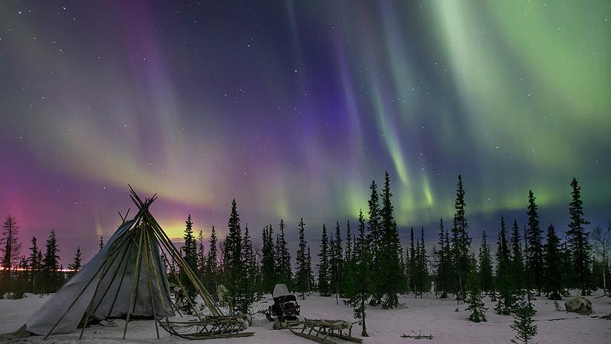
[[[202,282],[182,259],[173,243],[149,212],[156,196],[144,202],[132,191],[132,200],[139,211],[127,219],[80,272],[69,280],[36,314],[25,323],[28,334],[45,335],[71,333],[80,325],[81,338],[91,319],[124,318],[123,338],[127,334],[129,319],[152,318],[158,326],[173,336],[189,339],[250,336],[240,333],[248,327],[245,317],[223,316],[221,309],[211,299]],[[195,321],[172,321],[180,310],[170,294],[170,284],[162,257],[175,260],[182,274],[187,276],[189,287],[194,289],[209,309],[209,316],[202,315],[197,306],[186,297],[188,305],[197,316]],[[171,272],[180,288],[185,285],[174,270]],[[185,279],[182,279],[183,281]],[[185,324],[188,324],[186,326]],[[190,333],[183,330],[187,328]]]

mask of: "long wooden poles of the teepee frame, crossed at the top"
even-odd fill
[[[147,281],[148,281],[148,286],[149,286],[149,292],[151,294],[151,308],[153,310],[153,319],[155,319],[155,330],[156,330],[157,338],[159,338],[158,321],[160,321],[160,319],[158,319],[157,314],[156,314],[156,305],[155,305],[155,298],[153,297],[153,285],[151,284],[151,277],[154,280],[154,282],[156,283],[156,287],[157,287],[156,289],[158,292],[158,296],[159,296],[159,299],[161,300],[161,306],[165,313],[164,314],[165,322],[168,324],[168,326],[170,325],[170,321],[168,317],[168,308],[166,308],[165,306],[165,300],[168,300],[170,302],[170,305],[173,306],[173,309],[178,311],[178,306],[176,306],[176,304],[172,304],[171,302],[171,297],[170,297],[168,287],[163,287],[161,285],[161,282],[160,282],[160,279],[157,273],[157,270],[161,269],[161,266],[160,265],[157,265],[154,267],[151,266],[156,261],[154,259],[155,257],[154,255],[159,255],[159,253],[163,254],[163,250],[165,250],[168,253],[168,255],[178,263],[181,271],[185,273],[188,281],[192,284],[195,291],[199,294],[200,297],[202,297],[202,300],[204,300],[204,303],[208,307],[211,315],[212,316],[223,316],[223,312],[221,311],[221,309],[219,309],[219,306],[217,306],[214,303],[209,292],[202,285],[202,282],[199,281],[195,273],[193,273],[189,265],[187,265],[185,260],[182,258],[182,256],[178,252],[178,250],[175,248],[172,241],[170,241],[170,238],[168,238],[168,236],[165,234],[163,229],[161,229],[161,226],[158,224],[156,219],[149,212],[149,206],[157,198],[156,194],[153,195],[153,197],[146,198],[143,202],[140,199],[140,197],[136,195],[131,185],[129,185],[129,190],[131,191],[131,195],[129,195],[129,197],[132,198],[132,201],[134,201],[134,203],[138,207],[138,210],[139,210],[138,213],[136,214],[136,216],[134,216],[133,219],[130,219],[130,220],[126,220],[127,214],[125,215],[125,217],[122,217],[122,220],[123,220],[122,226],[129,225],[129,228],[126,231],[124,231],[124,233],[119,238],[117,238],[115,241],[112,242],[112,246],[110,247],[109,253],[105,257],[105,260],[103,261],[103,263],[100,264],[100,267],[98,268],[98,270],[95,272],[95,274],[93,274],[91,279],[88,280],[85,287],[83,287],[83,289],[78,294],[78,296],[71,302],[70,306],[68,307],[68,309],[66,309],[64,314],[62,314],[62,316],[59,317],[59,319],[54,324],[54,326],[51,328],[49,333],[47,333],[47,335],[45,336],[45,339],[47,339],[51,335],[51,333],[54,331],[57,325],[59,325],[62,319],[64,319],[66,314],[68,314],[70,309],[72,309],[74,304],[76,304],[78,299],[83,295],[86,289],[88,289],[89,285],[91,285],[91,283],[93,283],[93,281],[97,277],[98,281],[95,285],[95,290],[93,292],[93,297],[91,298],[91,302],[89,302],[87,306],[85,322],[83,323],[83,327],[81,329],[81,335],[79,336],[79,339],[83,338],[83,333],[89,321],[89,317],[91,316],[92,313],[95,313],[95,311],[100,306],[100,303],[102,302],[102,300],[106,297],[107,292],[110,290],[110,287],[115,282],[115,277],[117,277],[117,274],[115,274],[112,277],[112,280],[110,281],[110,283],[108,284],[108,287],[105,289],[105,291],[102,294],[102,297],[100,298],[100,302],[98,302],[98,304],[92,310],[92,306],[93,306],[95,297],[96,295],[98,295],[98,291],[100,291],[99,290],[100,283],[103,281],[105,275],[110,270],[112,263],[114,263],[115,260],[119,256],[121,256],[121,258],[120,258],[119,265],[117,265],[118,267],[121,267],[126,257],[129,261],[129,258],[132,256],[134,247],[137,249],[136,269],[135,269],[136,272],[135,272],[134,278],[132,278],[132,288],[131,288],[131,292],[129,295],[129,307],[127,309],[127,316],[125,319],[125,327],[123,330],[123,339],[125,339],[127,335],[127,326],[129,323],[129,318],[132,315],[132,312],[135,310],[136,297],[138,296],[136,291],[138,290],[138,284],[140,280],[139,278],[140,266],[141,266],[143,258],[144,258],[144,262],[146,263],[146,271],[148,274]],[[151,245],[151,239],[156,239],[158,243],[158,250],[160,251],[153,250],[153,246]],[[119,287],[117,287],[117,294],[115,294],[115,297],[113,298],[112,304],[110,306],[110,311],[108,312],[108,316],[110,316],[112,309],[115,306],[115,302],[117,301],[117,296],[121,290],[121,286],[122,286],[126,271],[127,271],[127,264],[125,264],[124,266],[124,269],[121,275],[121,279],[119,282]],[[170,271],[175,276],[175,279],[178,281],[182,290],[186,290],[185,285],[182,284],[182,281],[178,277],[175,270],[171,268]],[[161,273],[161,270],[160,270],[160,273]],[[162,290],[163,290],[163,294],[162,294]],[[167,297],[167,299],[164,296]],[[187,297],[186,299],[191,309],[194,311],[197,318],[199,319],[199,321],[202,321],[204,317],[202,316],[202,314],[200,314],[197,307],[192,303],[191,298]],[[180,311],[178,311],[178,314],[180,315]]]

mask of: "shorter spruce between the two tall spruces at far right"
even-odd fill
[[[544,251],[545,292],[550,300],[562,299],[562,265],[560,256],[560,239],[552,224],[547,227],[547,241]]]

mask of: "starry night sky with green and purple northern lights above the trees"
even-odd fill
[[[391,176],[405,237],[499,214],[611,219],[609,1],[2,1],[0,216],[57,231],[64,265],[141,196],[173,238],[187,214],[310,243]],[[494,233],[494,234],[490,234]],[[25,247],[25,246],[24,246]]]

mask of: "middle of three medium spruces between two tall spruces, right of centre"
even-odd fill
[[[499,241],[496,248],[496,289],[499,291],[499,299],[494,309],[502,315],[511,314],[514,305],[511,278],[511,253],[507,243],[505,219],[501,215],[501,231],[499,231]]]

